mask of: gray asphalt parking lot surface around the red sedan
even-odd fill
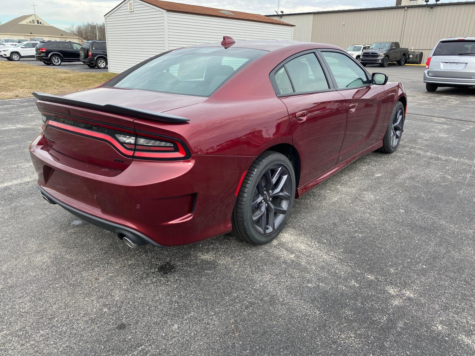
[[[306,193],[259,247],[130,249],[47,205],[34,99],[0,101],[0,354],[474,355],[475,91],[428,93],[423,68],[367,67],[407,90],[399,149]]]

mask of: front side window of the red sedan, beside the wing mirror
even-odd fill
[[[322,52],[322,55],[335,77],[338,89],[370,84],[366,72],[350,57],[337,52]]]

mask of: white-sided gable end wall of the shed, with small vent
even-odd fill
[[[165,12],[140,1],[133,1],[133,12],[129,12],[128,3],[104,18],[109,72],[113,73],[166,50]]]

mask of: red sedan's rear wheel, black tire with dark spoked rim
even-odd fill
[[[276,179],[274,183],[273,178]],[[276,193],[279,186],[281,189]],[[272,194],[275,195],[272,197]],[[285,227],[294,199],[295,172],[292,163],[281,153],[264,152],[247,170],[239,189],[232,215],[232,233],[249,244],[271,242]],[[256,202],[254,205],[253,200]],[[277,213],[277,210],[283,213]],[[257,225],[264,226],[266,231]]]

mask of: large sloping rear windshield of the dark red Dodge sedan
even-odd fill
[[[195,47],[152,59],[114,84],[119,88],[209,96],[266,51],[249,48]]]

